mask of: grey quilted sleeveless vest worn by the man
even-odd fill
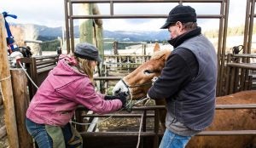
[[[212,123],[215,111],[216,51],[212,43],[202,35],[189,38],[172,53],[175,53],[178,48],[187,48],[195,54],[199,71],[191,83],[167,102],[167,114],[171,114],[188,128],[202,130]]]

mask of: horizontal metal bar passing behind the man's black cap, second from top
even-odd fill
[[[95,14],[95,15],[71,15],[71,19],[151,19],[167,18],[167,14]],[[222,14],[198,14],[201,19],[220,19]]]

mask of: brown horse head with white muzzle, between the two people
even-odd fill
[[[114,95],[119,92],[125,92],[130,94],[132,99],[140,99],[147,94],[148,88],[152,85],[153,78],[160,76],[160,72],[164,68],[168,56],[171,54],[171,50],[156,51],[157,48],[159,46],[156,44],[155,52],[150,60],[116,83],[113,88]]]

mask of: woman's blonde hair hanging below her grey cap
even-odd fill
[[[93,73],[94,73],[94,67],[90,65],[92,60],[86,60],[79,57],[76,57],[78,61],[77,68],[79,71],[83,72],[84,74],[88,75],[90,78],[90,81],[93,82]]]

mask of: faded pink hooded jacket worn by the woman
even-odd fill
[[[60,60],[38,88],[26,111],[26,117],[33,122],[66,125],[78,105],[98,114],[121,108],[120,100],[103,100],[104,95],[95,92],[89,77],[68,65],[69,61],[72,59]]]

